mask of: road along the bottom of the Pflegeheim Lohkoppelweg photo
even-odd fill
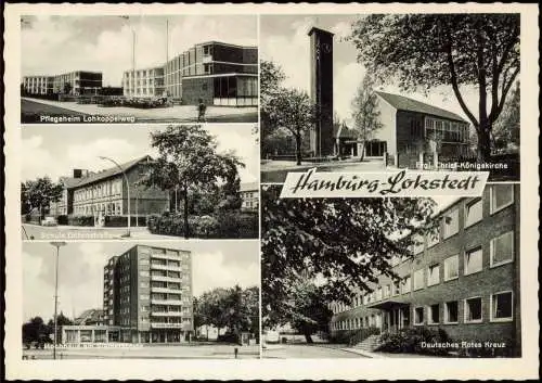
[[[38,99],[21,100],[21,118],[23,123],[47,123],[41,116],[74,116],[81,120],[74,123],[88,123],[83,116],[115,116],[119,120],[112,123],[195,123],[197,108],[194,105],[175,105],[170,107],[137,108],[127,106],[103,107],[95,104],[77,104],[76,102],[60,102]],[[125,120],[122,120],[122,118]],[[133,120],[126,120],[132,118]],[[207,123],[257,123],[258,108],[256,106],[212,106],[206,112]],[[100,123],[100,120],[98,122]]]

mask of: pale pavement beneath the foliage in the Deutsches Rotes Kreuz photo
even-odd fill
[[[264,348],[262,357],[278,359],[364,358],[362,355],[340,348],[309,345],[279,345],[276,348]]]

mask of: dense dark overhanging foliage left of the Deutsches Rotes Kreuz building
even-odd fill
[[[393,255],[412,255],[416,234],[434,230],[430,199],[279,199],[262,189],[261,275],[266,327],[309,317],[295,281],[322,281],[314,305],[350,304],[353,290],[371,291],[379,273],[397,279]],[[305,294],[305,293],[304,293]],[[320,301],[321,299],[321,301]],[[325,315],[323,312],[322,315]],[[309,317],[310,318],[310,317]],[[312,318],[315,323],[318,318]]]

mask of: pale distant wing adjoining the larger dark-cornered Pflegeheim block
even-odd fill
[[[126,97],[164,97],[164,67],[126,71],[122,88]]]

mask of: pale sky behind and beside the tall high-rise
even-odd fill
[[[193,254],[193,294],[214,288],[260,284],[258,241],[138,242],[188,250]],[[60,247],[59,312],[77,317],[89,308],[102,308],[103,267],[133,242],[69,242]],[[23,319],[54,312],[54,258],[56,250],[47,242],[23,243]]]

